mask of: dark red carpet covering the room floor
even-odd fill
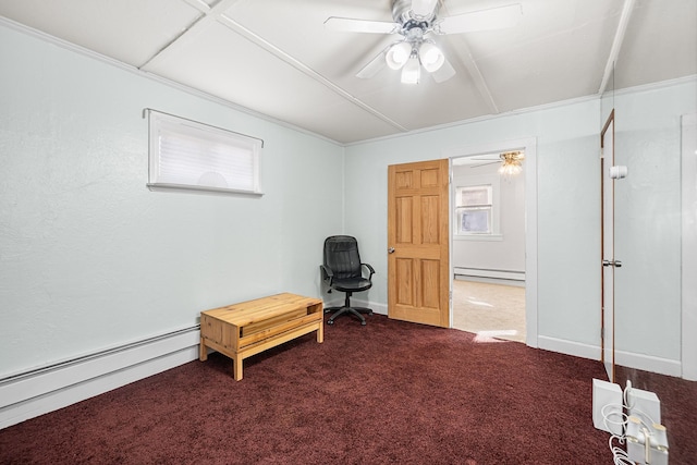
[[[231,370],[212,354],[5,428],[0,463],[612,463],[598,362],[375,315],[252,357],[240,382]],[[655,379],[670,463],[697,463],[697,383]]]

